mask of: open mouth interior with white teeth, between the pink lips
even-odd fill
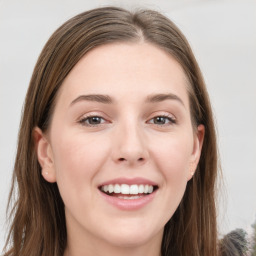
[[[119,199],[139,199],[146,197],[158,189],[158,186],[144,184],[108,184],[100,186],[99,189],[106,195]]]

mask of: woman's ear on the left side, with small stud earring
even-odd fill
[[[52,148],[46,138],[46,135],[43,134],[40,128],[36,127],[33,131],[33,137],[37,152],[37,159],[42,168],[42,176],[48,182],[56,182]]]

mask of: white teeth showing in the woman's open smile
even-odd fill
[[[115,194],[123,194],[123,195],[138,195],[138,194],[151,194],[154,190],[152,185],[127,185],[127,184],[109,184],[109,185],[104,185],[100,188],[104,192],[108,193],[115,193]],[[129,199],[137,199],[138,197],[129,197]],[[122,196],[120,198],[123,198]]]

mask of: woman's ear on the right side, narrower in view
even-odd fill
[[[193,177],[196,171],[198,162],[200,160],[201,151],[202,151],[203,142],[204,142],[204,134],[205,134],[204,125],[200,124],[197,127],[197,131],[195,132],[195,135],[194,135],[194,145],[193,145],[193,152],[191,154],[190,165],[188,170],[188,180],[190,180]]]

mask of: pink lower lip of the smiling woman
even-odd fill
[[[113,206],[119,208],[120,210],[138,210],[149,204],[155,197],[156,191],[153,193],[142,196],[137,199],[122,199],[114,196],[109,196],[102,191],[100,191],[102,197]],[[135,195],[136,196],[136,195]]]

